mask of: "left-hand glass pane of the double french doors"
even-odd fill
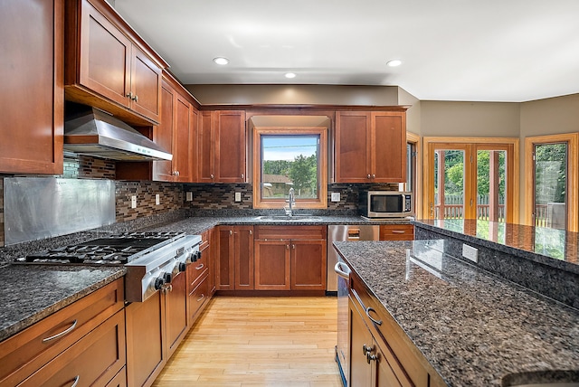
[[[434,219],[464,217],[464,151],[434,152]]]

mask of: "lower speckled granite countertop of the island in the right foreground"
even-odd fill
[[[514,373],[579,375],[576,309],[443,254],[441,243],[335,246],[449,385],[500,386]]]

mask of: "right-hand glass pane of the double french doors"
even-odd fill
[[[477,151],[477,219],[505,222],[507,151]]]

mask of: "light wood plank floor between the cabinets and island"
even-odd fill
[[[214,297],[154,387],[341,387],[336,297]]]

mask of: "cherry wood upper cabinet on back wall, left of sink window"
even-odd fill
[[[199,182],[245,183],[245,111],[202,112],[199,128]]]

